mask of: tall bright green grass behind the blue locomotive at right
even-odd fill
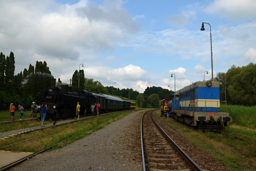
[[[223,111],[224,106],[220,105],[220,111]],[[256,129],[256,105],[228,105],[229,116],[232,117],[232,122],[229,124],[237,124],[243,127]]]

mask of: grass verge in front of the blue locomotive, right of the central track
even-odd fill
[[[166,119],[160,117],[160,111],[157,111],[157,116],[171,128],[177,130],[180,135],[201,147],[205,152],[211,153],[214,158],[221,160],[223,164],[227,164],[233,170],[256,169],[256,158],[249,152],[241,150],[243,148],[255,153],[256,145],[234,138],[234,135],[236,135],[255,142],[256,131],[254,129],[244,129],[241,126],[231,125],[222,134],[203,132],[172,118],[169,118],[167,123]],[[229,144],[238,148],[231,147]]]

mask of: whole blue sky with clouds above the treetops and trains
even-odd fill
[[[202,22],[214,76],[256,63],[255,9],[255,0],[1,0],[0,52],[14,53],[15,74],[45,60],[63,83],[84,64],[104,86],[179,90],[212,77]]]

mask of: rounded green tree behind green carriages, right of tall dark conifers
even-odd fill
[[[108,90],[99,81],[92,78],[84,78],[84,89],[92,93],[108,94]]]

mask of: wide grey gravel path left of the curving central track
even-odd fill
[[[131,170],[141,169],[138,137],[140,112],[112,122],[103,129],[61,149],[39,154],[9,170]],[[133,130],[136,130],[134,132]]]

